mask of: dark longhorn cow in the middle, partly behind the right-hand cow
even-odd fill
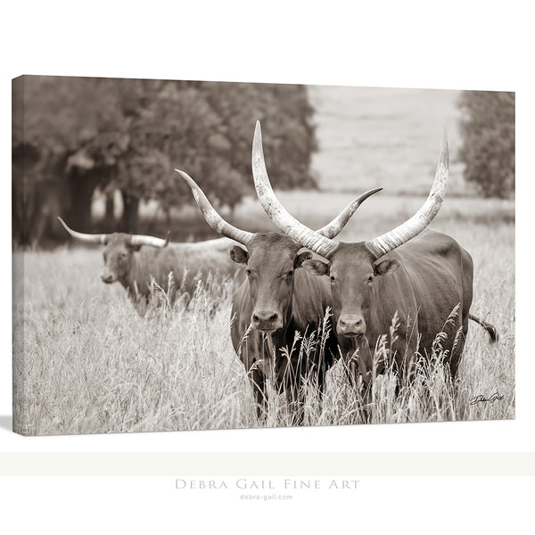
[[[327,308],[333,306],[330,285],[323,277],[310,276],[300,269],[303,261],[312,258],[311,252],[300,252],[300,245],[286,235],[273,232],[252,234],[230,225],[210,205],[193,178],[177,171],[191,187],[208,224],[218,234],[243,245],[235,245],[230,250],[230,258],[245,265],[247,274],[247,280],[237,289],[233,299],[231,338],[236,354],[248,372],[259,416],[266,402],[266,375],[273,370],[276,387],[286,392],[300,423],[302,380],[315,374],[318,388],[323,392],[325,372],[338,355],[338,345],[331,333],[325,348],[320,348],[317,342],[309,358],[300,358],[302,339],[296,341],[295,333],[310,335],[322,326]],[[317,234],[330,238],[338,235],[358,206],[380,189],[360,195]]]

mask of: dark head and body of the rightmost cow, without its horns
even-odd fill
[[[358,349],[358,371],[365,385],[372,379],[375,344],[389,334],[396,313],[398,340],[391,349],[402,382],[414,371],[416,349],[430,354],[440,332],[447,334],[442,349],[455,377],[468,331],[473,262],[453,238],[424,231],[377,260],[365,243],[340,243],[328,264],[309,260],[303,267],[331,277],[333,324],[342,354]],[[457,305],[457,317],[448,321]],[[384,363],[375,366],[379,374]]]

